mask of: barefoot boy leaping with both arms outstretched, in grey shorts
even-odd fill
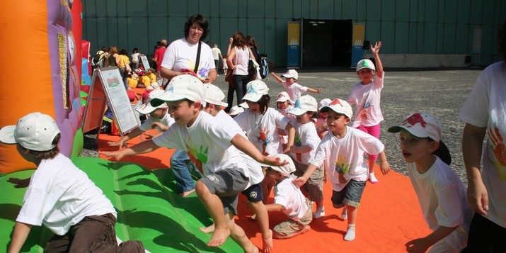
[[[275,157],[263,156],[241,133],[202,112],[205,86],[197,77],[189,74],[173,77],[166,92],[151,100],[151,106],[159,106],[165,101],[168,102],[169,113],[176,124],[153,140],[123,150],[102,153],[119,160],[125,156],[151,152],[159,147],[186,150],[195,166],[205,175],[197,181],[195,191],[215,224],[207,246],[219,247],[230,236],[245,252],[258,252],[244,230],[234,223],[237,194],[248,188],[250,176],[248,169],[243,167],[245,162],[238,150],[257,162],[274,165],[283,163]]]

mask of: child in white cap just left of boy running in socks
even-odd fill
[[[304,95],[297,99],[295,107],[288,112],[297,117],[291,122],[295,128],[295,142],[290,147],[296,169],[295,176],[304,175],[309,160],[314,156],[316,147],[320,144],[320,137],[318,137],[313,123],[316,111],[318,111],[316,99]],[[316,202],[314,218],[318,219],[325,216],[325,210],[323,209],[323,169],[321,167],[311,174],[306,184],[304,184],[304,188],[309,193],[309,199]]]

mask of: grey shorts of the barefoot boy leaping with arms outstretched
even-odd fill
[[[207,189],[222,200],[225,213],[237,215],[237,195],[248,186],[249,178],[236,169],[224,169],[202,179]]]

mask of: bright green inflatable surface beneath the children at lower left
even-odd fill
[[[230,238],[222,247],[206,246],[211,235],[201,232],[199,227],[210,225],[212,220],[195,193],[182,198],[172,190],[176,189],[176,182],[169,169],[150,171],[137,164],[89,157],[74,157],[72,161],[113,202],[117,210],[117,237],[121,240],[141,240],[153,253],[243,252]],[[14,220],[26,190],[14,188],[7,179],[25,179],[33,172],[27,170],[0,177],[0,245],[7,245],[11,240]],[[45,227],[33,227],[22,252],[43,252],[50,237],[52,232]]]

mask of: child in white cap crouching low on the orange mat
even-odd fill
[[[275,225],[272,237],[276,239],[286,239],[296,235],[304,234],[309,231],[309,223],[313,220],[311,215],[313,204],[302,194],[299,187],[292,181],[297,178],[293,176],[295,165],[292,159],[286,154],[275,154],[287,164],[282,166],[268,166],[266,175],[269,179],[276,182],[274,188],[274,203],[265,205],[269,212],[283,212],[288,216],[288,220]]]

